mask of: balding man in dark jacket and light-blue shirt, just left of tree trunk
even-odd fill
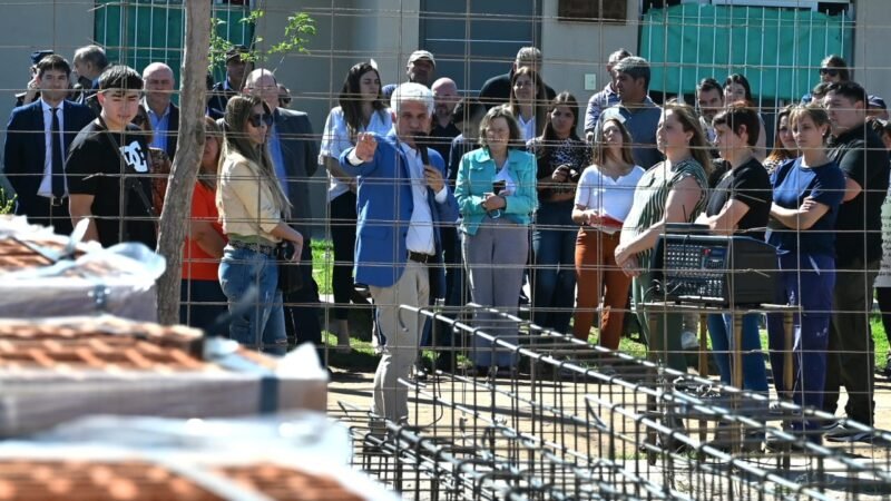
[[[170,101],[174,92],[174,70],[163,62],[153,62],[143,70],[145,98],[143,107],[151,121],[151,148],[163,149],[170,160],[176,153],[179,131],[179,108]]]

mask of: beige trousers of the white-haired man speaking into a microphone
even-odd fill
[[[378,308],[378,323],[386,336],[383,356],[374,373],[372,412],[389,421],[404,423],[409,419],[409,389],[399,380],[408,380],[418,356],[424,317],[399,306],[428,306],[430,277],[427,266],[407,261],[399,282],[390,287],[370,286],[369,291]]]

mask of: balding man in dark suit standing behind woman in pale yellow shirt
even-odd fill
[[[278,107],[278,82],[270,70],[257,69],[248,73],[244,94],[263,98],[273,110],[273,126],[267,141],[275,174],[291,202],[292,220],[288,223],[303,235],[301,269],[303,287],[285,294],[285,323],[288,337],[297,343],[322,344],[319,322],[319,287],[312,269],[312,216],[310,214],[310,178],[319,168],[319,146],[313,136],[310,117]]]

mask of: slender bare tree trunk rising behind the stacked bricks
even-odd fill
[[[188,0],[185,8],[186,33],[179,87],[179,140],[167,183],[160,214],[158,254],[167,259],[167,271],[158,279],[158,320],[179,322],[179,283],[183,279],[183,242],[192,214],[192,193],[204,154],[204,114],[210,46],[210,0]]]

